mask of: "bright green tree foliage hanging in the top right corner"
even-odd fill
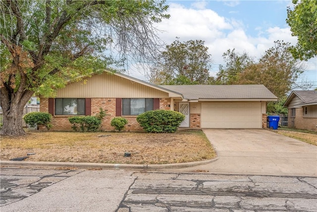
[[[287,8],[286,22],[297,45],[291,48],[296,59],[308,60],[317,56],[317,0],[293,0],[294,9]]]

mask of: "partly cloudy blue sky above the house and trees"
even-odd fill
[[[169,19],[157,24],[159,37],[171,44],[179,41],[203,40],[213,60],[210,74],[215,76],[222,54],[228,49],[246,52],[256,60],[274,41],[283,40],[292,45],[297,38],[291,35],[286,23],[287,6],[291,0],[167,0]],[[305,62],[306,71],[298,81],[307,80],[317,87],[317,58]],[[142,72],[130,75],[146,80]]]

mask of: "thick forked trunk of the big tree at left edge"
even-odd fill
[[[23,108],[34,92],[27,91],[23,93],[24,95],[16,95],[16,93],[12,94],[6,91],[7,90],[1,88],[1,108],[3,118],[1,135],[23,136],[25,135],[22,126]],[[16,96],[20,96],[20,98],[17,99]]]

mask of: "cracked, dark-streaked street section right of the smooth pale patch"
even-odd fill
[[[316,212],[317,178],[135,173],[117,212]]]

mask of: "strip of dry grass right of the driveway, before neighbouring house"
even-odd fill
[[[304,141],[313,145],[317,145],[317,132],[308,131],[308,130],[300,130],[294,128],[278,128],[277,130],[270,130],[274,133],[287,136],[293,139],[297,139],[299,141]]]

